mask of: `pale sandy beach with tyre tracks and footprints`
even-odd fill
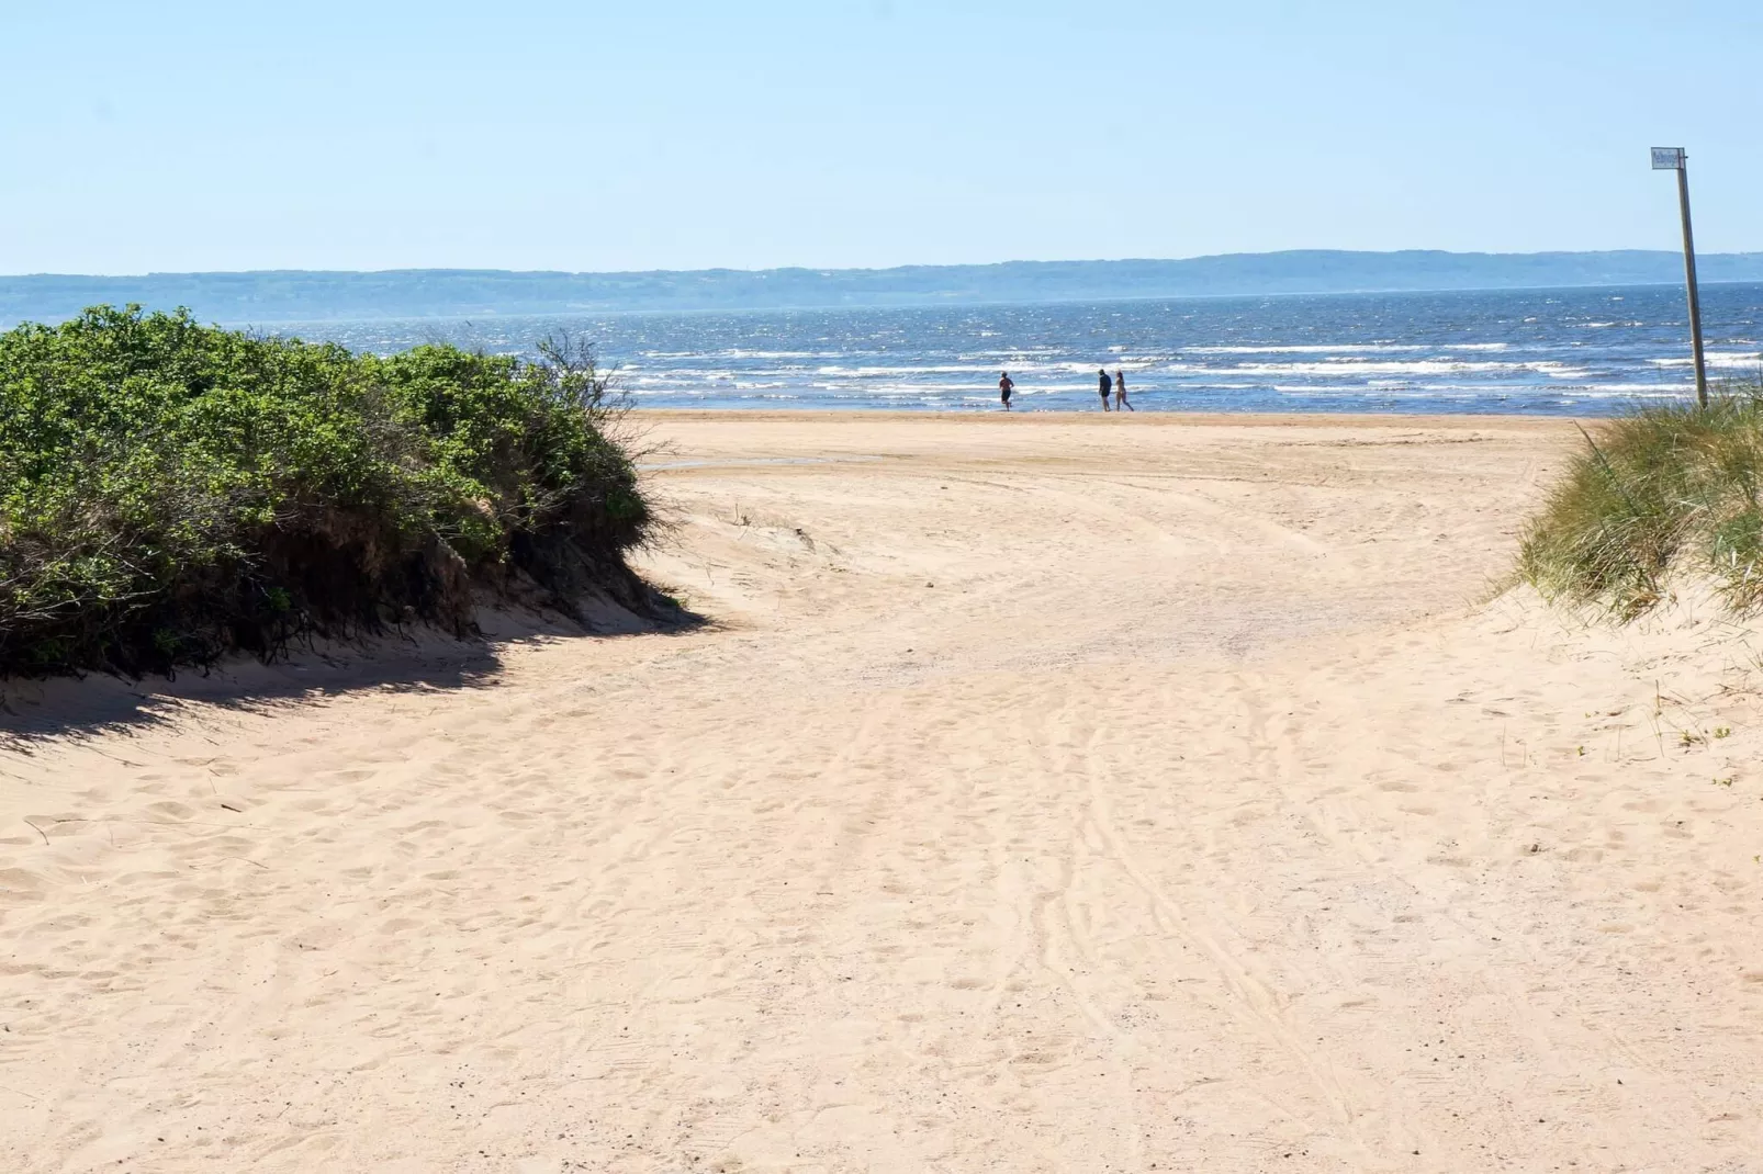
[[[1756,642],[1502,589],[1571,421],[643,425],[700,628],[7,687],[0,1169],[1763,1170]]]

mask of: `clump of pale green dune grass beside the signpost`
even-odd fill
[[[1520,573],[1551,599],[1633,619],[1685,569],[1751,612],[1763,605],[1759,479],[1763,386],[1610,421],[1530,522]]]

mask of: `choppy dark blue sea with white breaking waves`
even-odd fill
[[[1763,377],[1763,284],[1701,289],[1708,374]],[[592,344],[647,407],[1599,416],[1694,391],[1680,286],[277,324],[391,353]]]

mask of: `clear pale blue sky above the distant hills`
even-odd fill
[[[0,273],[1763,249],[1763,4],[0,0]]]

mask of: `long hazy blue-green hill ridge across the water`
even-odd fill
[[[0,277],[0,324],[60,321],[97,303],[185,305],[205,321],[959,305],[1227,294],[1645,286],[1682,280],[1675,252],[1239,252],[1185,261],[1008,261],[892,270],[266,270]],[[1763,252],[1700,257],[1708,282],[1763,282]]]

